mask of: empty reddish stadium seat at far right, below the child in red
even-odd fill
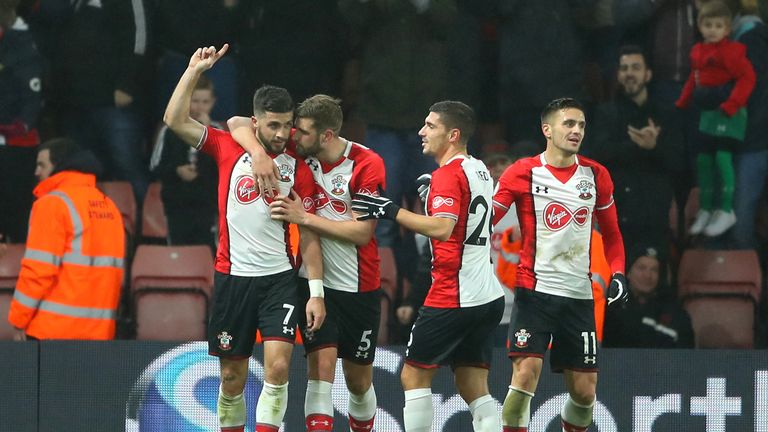
[[[687,250],[679,296],[691,315],[697,348],[752,348],[762,275],[752,250]]]

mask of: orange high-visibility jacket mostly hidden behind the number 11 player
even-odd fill
[[[499,281],[509,289],[515,288],[517,280],[517,264],[520,262],[520,239],[513,236],[514,228],[504,231],[501,239],[501,249],[499,251],[499,265],[497,267],[497,276]],[[595,327],[597,330],[597,340],[603,340],[603,325],[605,323],[605,293],[608,290],[608,283],[611,281],[611,268],[603,251],[603,236],[599,232],[592,230],[589,271],[592,274],[592,297],[595,300]]]

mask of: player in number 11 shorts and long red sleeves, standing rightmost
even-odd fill
[[[585,126],[576,100],[550,102],[541,114],[546,150],[507,168],[493,197],[494,223],[515,203],[522,234],[509,324],[512,383],[502,410],[504,432],[528,430],[550,339],[551,368],[564,372],[569,393],[561,411],[563,430],[586,431],[592,423],[598,365],[589,278],[593,213],[613,274],[608,304],[616,307],[628,298],[613,182],[602,165],[576,155]]]

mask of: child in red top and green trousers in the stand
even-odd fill
[[[746,47],[728,39],[731,18],[728,6],[718,0],[701,6],[697,22],[704,40],[691,49],[691,74],[675,102],[683,109],[694,102],[701,110],[696,133],[696,177],[701,195],[700,209],[690,228],[693,235],[716,237],[736,223],[733,151],[744,140],[745,107],[755,86],[755,72]]]

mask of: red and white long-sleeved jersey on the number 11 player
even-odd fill
[[[496,219],[515,203],[522,236],[518,287],[591,299],[593,214],[611,272],[624,271],[613,182],[599,163],[576,156],[573,165],[558,168],[547,164],[544,153],[521,159],[501,175],[493,201]]]

